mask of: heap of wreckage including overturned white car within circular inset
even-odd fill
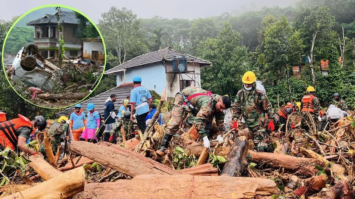
[[[16,55],[11,68],[6,69],[15,90],[34,104],[63,107],[86,97],[97,85],[103,72],[102,63],[79,59],[74,63],[64,55],[58,59],[43,58],[35,44],[28,44]]]

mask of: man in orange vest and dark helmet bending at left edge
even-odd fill
[[[32,133],[42,131],[46,126],[47,121],[43,116],[35,116],[31,121],[18,114],[18,118],[0,123],[0,148],[3,150],[10,147],[15,151],[20,149],[30,155],[35,155],[37,152],[26,147],[26,141]]]

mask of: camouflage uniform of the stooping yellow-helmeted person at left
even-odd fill
[[[50,137],[50,144],[52,146],[53,153],[55,154],[57,152],[57,147],[60,145],[60,143],[63,141],[63,138],[66,136],[66,132],[68,130],[69,125],[68,124],[60,124],[59,122],[54,122],[50,126],[48,130],[48,137]],[[41,152],[44,152],[44,141],[40,145]]]

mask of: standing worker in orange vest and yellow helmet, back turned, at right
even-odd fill
[[[322,121],[318,113],[320,109],[320,104],[314,92],[314,87],[308,86],[307,95],[302,98],[301,102],[301,127],[307,132],[309,131],[309,128],[313,125],[313,123],[316,125],[315,129],[318,129],[318,123]]]

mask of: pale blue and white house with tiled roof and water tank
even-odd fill
[[[139,75],[142,84],[149,90],[162,94],[166,87],[167,97],[174,97],[187,86],[201,87],[201,68],[211,64],[166,47],[135,57],[107,70],[105,74],[116,75],[117,85],[132,81],[133,76]]]

